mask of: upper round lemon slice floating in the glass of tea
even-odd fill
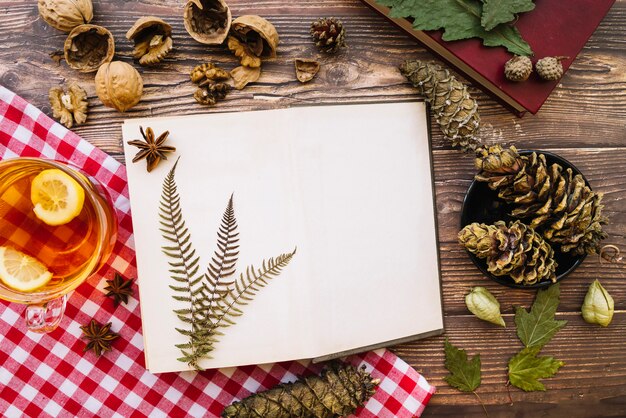
[[[85,191],[68,174],[53,168],[33,179],[30,200],[39,219],[48,225],[63,225],[83,209]]]

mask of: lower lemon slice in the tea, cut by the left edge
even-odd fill
[[[30,292],[51,278],[52,273],[39,260],[11,247],[0,247],[0,280],[10,288]]]

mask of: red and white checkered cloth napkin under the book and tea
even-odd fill
[[[119,233],[109,262],[71,295],[66,317],[55,331],[26,331],[24,306],[0,301],[0,415],[219,416],[235,399],[320,371],[320,365],[290,361],[200,373],[149,373],[137,299],[116,308],[103,291],[105,279],[115,271],[128,278],[136,274],[125,167],[0,86],[0,159],[17,156],[69,161],[97,178],[111,194]],[[83,353],[79,327],[91,318],[112,322],[120,334],[113,351],[100,358]],[[347,361],[365,365],[381,379],[359,417],[419,416],[435,392],[389,351]]]

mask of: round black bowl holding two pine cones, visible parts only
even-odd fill
[[[531,154],[533,151],[520,151],[521,155]],[[574,174],[581,174],[580,171],[569,161],[558,155],[551,154],[549,152],[541,152],[546,156],[546,162],[548,164],[558,163],[564,169],[571,168]],[[582,174],[581,174],[582,175]],[[589,185],[587,179],[583,176],[585,183]],[[472,222],[480,222],[486,224],[493,224],[496,221],[502,220],[505,222],[515,220],[515,218],[509,216],[512,211],[512,205],[505,203],[498,198],[498,193],[493,191],[487,186],[487,183],[482,183],[474,180],[470,184],[465,198],[463,199],[463,208],[461,209],[461,228]],[[523,222],[523,220],[522,220]],[[574,256],[570,253],[563,253],[558,249],[558,246],[553,246],[554,257],[558,264],[556,268],[556,280],[560,281],[565,276],[570,274],[578,267],[584,260],[585,256]],[[476,267],[483,272],[483,274],[489,277],[491,280],[503,284],[505,286],[514,287],[518,289],[538,289],[547,287],[552,284],[551,281],[542,281],[533,285],[517,284],[509,276],[494,276],[487,271],[487,263],[485,260],[476,257],[474,254],[467,252],[476,264]]]

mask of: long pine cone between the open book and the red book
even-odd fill
[[[440,66],[422,61],[405,61],[400,72],[417,87],[431,105],[435,120],[452,146],[463,151],[474,150],[480,144],[478,103],[463,83]]]

